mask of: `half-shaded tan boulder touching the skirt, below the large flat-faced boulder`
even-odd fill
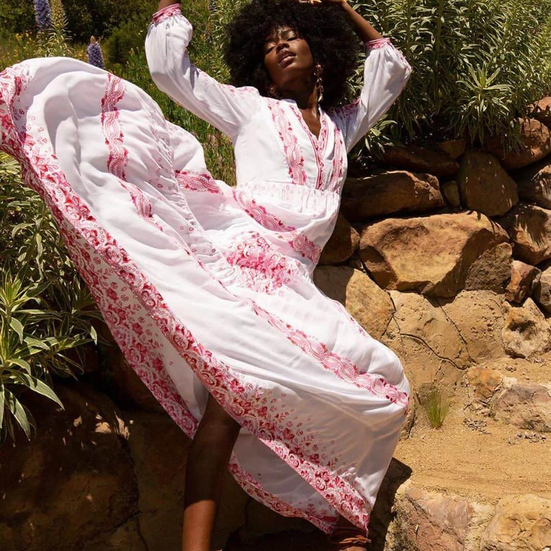
[[[314,271],[314,283],[341,302],[373,338],[381,338],[394,308],[388,294],[365,273],[349,266],[320,266]]]

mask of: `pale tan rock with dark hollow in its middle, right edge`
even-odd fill
[[[505,352],[513,358],[528,358],[551,348],[551,327],[530,298],[523,306],[509,306],[501,337]]]

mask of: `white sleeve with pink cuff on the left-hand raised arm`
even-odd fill
[[[260,94],[253,87],[219,83],[191,63],[192,30],[180,4],[155,12],[145,38],[149,72],[172,100],[234,140],[260,107]]]

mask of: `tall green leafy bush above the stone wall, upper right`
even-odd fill
[[[508,149],[518,137],[514,117],[551,91],[551,0],[361,0],[355,7],[413,66],[389,113],[399,121],[388,127],[393,138],[467,133],[483,143],[495,134]]]

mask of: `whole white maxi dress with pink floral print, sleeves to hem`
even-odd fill
[[[410,387],[397,355],[312,282],[337,218],[347,152],[411,67],[366,43],[364,88],[320,110],[220,84],[186,53],[179,4],[145,48],[155,83],[227,134],[237,186],[143,90],[65,57],[0,73],[0,145],[45,199],[132,368],[193,437],[208,392],[242,429],[229,471],[253,498],[331,533],[368,529]]]

